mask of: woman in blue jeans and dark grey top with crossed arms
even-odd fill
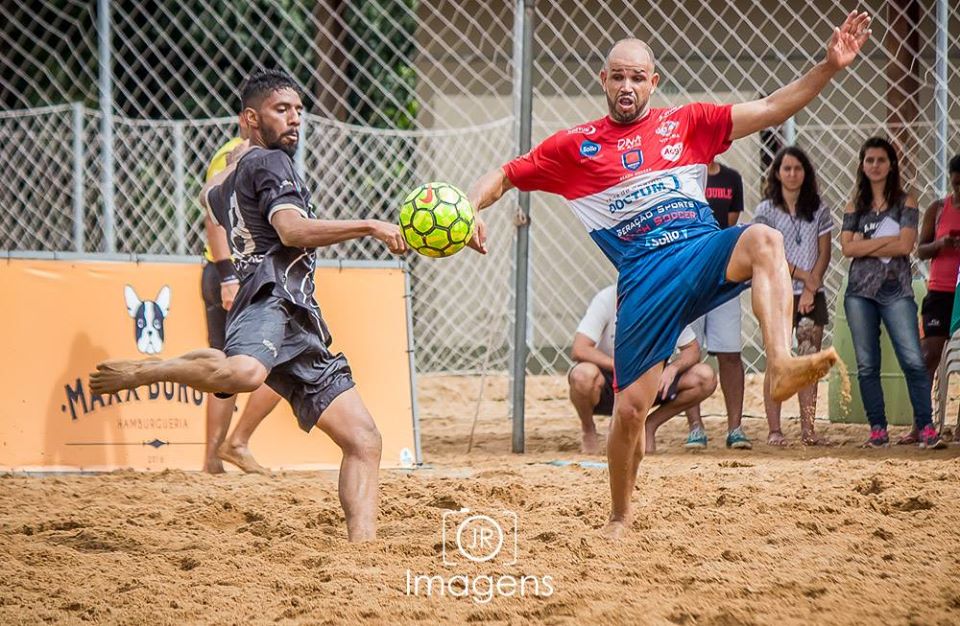
[[[898,443],[940,448],[931,424],[930,379],[920,350],[917,303],[910,253],[917,241],[917,200],[900,184],[897,153],[885,139],[871,137],[860,149],[853,201],[843,215],[840,243],[850,257],[843,306],[857,355],[857,378],[870,422],[870,447],[886,446],[887,417],[880,385],[880,322],[907,380],[914,429]]]

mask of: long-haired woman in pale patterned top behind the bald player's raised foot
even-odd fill
[[[754,223],[766,224],[783,235],[787,268],[793,278],[793,328],[797,352],[813,354],[823,343],[823,328],[829,321],[823,275],[830,263],[830,208],[820,200],[817,175],[810,159],[800,148],[784,148],[773,158],[767,171],[764,200],[757,206]],[[766,390],[765,390],[766,391]],[[827,441],[814,430],[817,413],[817,385],[801,389],[800,439],[807,445]],[[767,443],[784,446],[780,430],[781,403],[764,393],[764,407],[770,435]]]

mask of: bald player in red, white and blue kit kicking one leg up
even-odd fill
[[[838,360],[833,349],[791,356],[793,294],[782,236],[763,225],[720,230],[703,187],[707,164],[733,140],[784,122],[850,65],[869,37],[869,21],[850,13],[834,30],[826,58],[802,77],[760,100],[723,106],[652,109],[660,81],[653,52],[637,39],[620,41],[600,72],[608,116],[554,134],[470,187],[477,210],[514,187],[564,196],[618,269],[608,538],[633,523],[630,496],[647,413],[685,325],[750,281],[773,398],[793,395]],[[471,246],[484,252],[486,230],[482,220],[477,225]]]

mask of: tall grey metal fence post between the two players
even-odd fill
[[[519,148],[523,154],[530,150],[533,126],[533,20],[536,0],[517,0],[515,18],[522,20],[519,41],[514,38],[514,46],[520,46],[520,133]],[[514,55],[516,58],[517,55]],[[530,193],[520,192],[520,211],[530,216]],[[527,378],[527,287],[529,284],[530,224],[528,220],[517,226],[516,284],[513,332],[513,446],[516,453],[524,450],[524,402],[526,399]]]

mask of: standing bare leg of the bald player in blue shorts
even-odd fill
[[[630,497],[637,484],[637,470],[643,460],[644,426],[647,413],[660,385],[663,364],[658,363],[617,394],[613,420],[607,436],[607,465],[610,470],[610,519],[605,537],[619,539],[633,523]]]

